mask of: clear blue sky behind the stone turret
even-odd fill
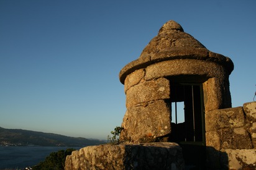
[[[0,0],[0,127],[106,139],[126,112],[119,71],[168,20],[232,59],[232,106],[242,106],[256,90],[255,6]]]

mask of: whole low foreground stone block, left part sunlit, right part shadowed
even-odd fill
[[[176,143],[90,146],[73,151],[65,162],[65,170],[184,168],[182,150]]]

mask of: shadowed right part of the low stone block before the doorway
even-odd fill
[[[171,143],[126,145],[124,167],[128,169],[184,169],[185,164],[178,145]],[[159,145],[159,146],[158,146]]]

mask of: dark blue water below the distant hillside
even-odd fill
[[[52,152],[81,147],[6,147],[0,146],[0,169],[24,169],[44,161]]]

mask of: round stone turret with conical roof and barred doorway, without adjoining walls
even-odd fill
[[[119,74],[127,107],[121,141],[205,145],[204,112],[231,107],[233,69],[229,57],[209,51],[168,21]]]

